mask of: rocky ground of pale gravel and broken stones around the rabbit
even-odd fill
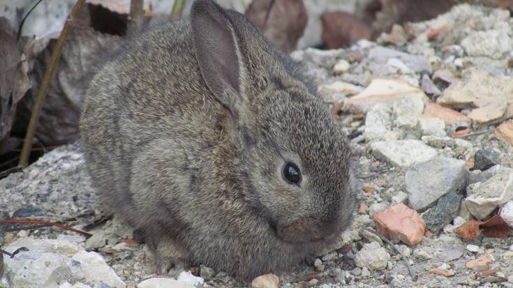
[[[361,204],[311,266],[246,286],[513,287],[512,27],[463,5],[378,43],[294,52],[347,128]],[[156,278],[137,233],[101,209],[80,144],[2,179],[0,211],[93,234],[3,225],[2,249],[29,250],[3,255],[0,287],[244,286],[203,266]]]

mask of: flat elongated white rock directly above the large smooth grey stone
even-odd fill
[[[371,143],[374,156],[394,166],[410,167],[436,156],[436,150],[415,139]]]

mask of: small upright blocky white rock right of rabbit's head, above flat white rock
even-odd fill
[[[365,116],[364,136],[368,142],[386,139],[392,130],[392,107],[377,104]]]

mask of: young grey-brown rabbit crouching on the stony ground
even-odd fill
[[[279,273],[355,211],[341,124],[287,56],[213,1],[106,63],[80,129],[94,184],[144,229],[160,273]]]

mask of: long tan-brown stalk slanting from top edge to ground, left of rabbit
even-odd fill
[[[78,10],[84,5],[85,0],[77,0],[73,10],[71,10],[70,15],[66,19],[64,23],[64,28],[61,31],[61,35],[57,40],[57,45],[55,45],[55,50],[52,52],[52,57],[50,58],[50,63],[45,70],[45,76],[43,77],[43,82],[41,82],[41,86],[38,91],[38,96],[36,98],[36,103],[34,104],[34,109],[32,110],[32,114],[30,116],[29,128],[27,128],[27,135],[25,136],[25,141],[23,142],[22,155],[20,156],[20,162],[18,162],[18,166],[27,167],[29,164],[29,156],[30,150],[32,148],[32,141],[34,140],[34,134],[36,133],[36,127],[39,121],[39,114],[41,112],[41,108],[43,107],[43,103],[45,102],[46,97],[46,89],[50,84],[50,80],[52,79],[52,75],[55,70],[55,65],[57,64],[57,60],[59,60],[59,56],[61,56],[62,47],[64,47],[64,43],[66,42],[66,38],[68,37],[68,32],[71,28],[71,23],[73,19],[77,17]]]

